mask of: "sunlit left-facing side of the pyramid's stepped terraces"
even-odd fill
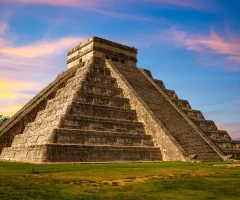
[[[26,125],[23,134],[14,137],[12,146],[3,149],[1,159],[28,162],[43,159],[46,150],[44,145],[51,143],[53,130],[61,123],[62,115],[67,112],[74,94],[81,87],[88,68],[89,64],[86,64],[77,69],[75,76],[57,90],[56,96],[48,100],[44,110],[37,113],[34,122]]]

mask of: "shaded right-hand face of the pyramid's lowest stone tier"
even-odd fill
[[[47,162],[160,161],[160,149],[133,146],[47,144]]]

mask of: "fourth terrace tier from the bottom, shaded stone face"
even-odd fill
[[[126,110],[93,104],[74,103],[71,107],[70,114],[78,116],[95,116],[101,118],[137,121],[137,113],[135,110]]]

